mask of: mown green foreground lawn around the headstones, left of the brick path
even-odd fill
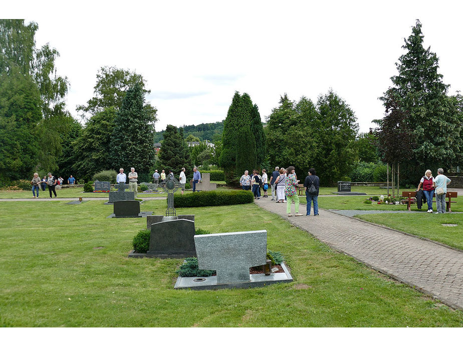
[[[144,211],[163,214],[165,201]],[[323,206],[322,206],[323,207]],[[331,250],[255,204],[177,209],[212,232],[266,229],[293,283],[174,290],[181,259],[129,259],[144,218],[102,201],[1,202],[0,326],[462,326],[463,312]],[[237,222],[240,221],[240,222]],[[95,249],[96,247],[103,247]]]

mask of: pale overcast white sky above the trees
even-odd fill
[[[11,2],[13,3],[13,2]],[[34,21],[37,46],[60,52],[67,106],[93,97],[103,66],[141,74],[158,112],[156,131],[218,122],[235,91],[248,93],[262,120],[285,93],[314,103],[333,89],[361,132],[384,116],[378,97],[397,74],[416,19],[439,58],[449,93],[463,90],[463,2],[440,1],[21,1],[2,15]]]

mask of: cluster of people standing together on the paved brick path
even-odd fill
[[[240,186],[243,190],[252,189],[254,198],[261,199],[261,187],[264,190],[264,198],[268,197],[267,190],[269,186],[272,189],[272,200],[277,203],[286,204],[286,212],[288,217],[293,216],[291,212],[291,205],[294,202],[295,205],[295,216],[302,216],[299,213],[299,196],[297,188],[300,180],[297,179],[296,169],[294,166],[290,166],[287,169],[276,167],[275,171],[272,172],[270,180],[265,169],[262,169],[262,176],[259,175],[258,170],[253,170],[252,176],[249,175],[249,171],[246,170],[244,175],[240,178]],[[252,187],[252,188],[251,188]],[[308,175],[304,180],[304,187],[306,190],[307,208],[306,215],[310,216],[310,210],[313,203],[314,215],[318,216],[318,194],[320,191],[320,178],[317,176],[314,168],[309,169]]]

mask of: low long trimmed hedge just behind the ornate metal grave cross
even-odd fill
[[[175,195],[174,198],[175,207],[239,205],[249,204],[253,201],[253,192],[249,190],[202,191],[192,194]]]

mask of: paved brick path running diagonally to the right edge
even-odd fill
[[[320,209],[320,215],[288,217],[286,203],[255,200],[332,248],[391,277],[463,309],[463,252]],[[294,205],[292,206],[294,212]],[[312,211],[313,212],[313,211]]]

